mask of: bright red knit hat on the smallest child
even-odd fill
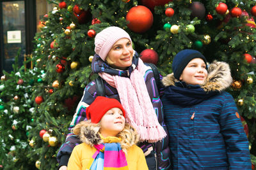
[[[110,99],[108,97],[98,96],[95,101],[86,108],[86,118],[92,120],[93,124],[100,122],[100,119],[111,108],[120,108],[125,117],[125,111],[122,104],[116,99]]]

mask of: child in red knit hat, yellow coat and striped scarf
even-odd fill
[[[83,143],[77,145],[68,161],[68,169],[147,170],[138,134],[125,124],[125,111],[116,99],[99,96],[86,108],[88,120],[74,127]]]

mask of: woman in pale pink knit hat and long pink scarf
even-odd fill
[[[140,135],[138,146],[145,154],[148,169],[169,169],[168,133],[154,74],[132,49],[131,38],[124,29],[108,27],[95,36],[92,71],[104,80],[106,97],[115,98],[124,106],[126,121]],[[95,81],[92,81],[84,89],[70,129],[86,120],[85,110],[96,97]],[[74,134],[67,136],[57,155],[59,167],[67,166],[78,143]]]

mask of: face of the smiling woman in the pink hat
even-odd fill
[[[132,65],[133,48],[131,41],[127,38],[122,38],[110,49],[106,61],[111,67],[117,69],[126,69]]]

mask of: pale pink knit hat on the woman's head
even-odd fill
[[[102,60],[105,60],[111,47],[121,38],[132,39],[129,34],[120,27],[107,27],[95,36],[94,51]]]

